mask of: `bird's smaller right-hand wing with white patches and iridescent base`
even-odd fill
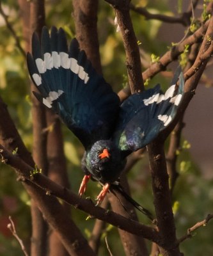
[[[179,86],[176,85],[178,77]],[[183,94],[184,76],[178,68],[166,93],[162,93],[157,84],[125,100],[114,132],[114,141],[120,150],[128,155],[154,140],[175,117]]]

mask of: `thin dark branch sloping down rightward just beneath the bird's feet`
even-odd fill
[[[29,173],[35,172],[31,166],[24,163],[18,156],[10,154],[2,145],[0,145],[1,159],[3,163],[10,164],[16,172],[26,181],[33,182],[40,188],[46,191],[47,195],[54,195],[61,198],[68,204],[74,205],[75,208],[80,209],[90,214],[91,218],[98,218],[99,220],[106,221],[111,225],[122,228],[127,232],[143,236],[150,241],[159,243],[159,236],[155,228],[147,227],[146,225],[139,224],[136,221],[128,220],[120,214],[116,214],[112,211],[106,211],[101,207],[96,207],[90,199],[82,199],[79,196],[72,193],[72,191],[63,188],[62,186],[52,182],[45,175],[41,173],[35,173],[29,175]],[[52,196],[50,196],[52,198]]]

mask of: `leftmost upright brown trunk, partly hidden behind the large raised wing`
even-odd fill
[[[45,25],[45,7],[43,0],[35,0],[30,3],[30,33],[36,31],[40,35],[42,27]],[[31,91],[36,91],[35,85],[31,83]],[[47,169],[47,134],[42,132],[47,126],[45,118],[45,108],[32,97],[32,120],[33,120],[33,159],[42,170]],[[45,173],[47,174],[47,173]],[[31,217],[32,217],[32,237],[31,237],[31,255],[46,255],[47,250],[47,222],[43,219],[42,212],[38,209],[33,198],[31,199]]]

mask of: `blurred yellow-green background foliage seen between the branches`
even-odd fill
[[[22,24],[20,21],[19,6],[17,1],[2,1],[3,9],[8,14],[9,20],[15,29],[17,36],[22,38]],[[169,1],[132,1],[134,4],[146,6],[152,13],[170,13],[168,8]],[[177,1],[178,12],[182,9],[182,1]],[[165,42],[159,42],[158,33],[161,28],[161,22],[157,20],[145,20],[144,17],[131,12],[132,22],[136,31],[138,41],[141,42],[141,56],[143,56],[143,65],[148,65],[158,60],[157,56],[161,56],[169,45]],[[101,61],[104,77],[113,86],[113,90],[118,92],[127,82],[127,74],[125,69],[125,51],[122,44],[122,36],[116,32],[114,26],[114,12],[109,4],[100,1],[99,6],[99,41]],[[70,1],[51,0],[46,1],[46,22],[47,26],[62,27],[67,32],[69,38],[75,35],[74,20],[72,19],[72,4]],[[171,46],[171,45],[170,45]],[[182,61],[185,56],[183,56]],[[166,79],[161,75],[157,75],[151,81],[147,81],[148,86],[155,83],[168,84],[170,79]],[[29,150],[32,146],[32,128],[31,128],[31,101],[29,95],[29,79],[26,69],[26,60],[20,54],[15,46],[15,41],[5,27],[0,17],[0,95],[4,102],[8,105],[8,109],[12,118],[19,129],[22,139],[26,143]],[[83,156],[83,147],[67,128],[63,127],[65,139],[65,153],[68,159],[68,175],[72,189],[76,191],[83,177],[81,171],[81,157]],[[178,162],[178,172],[180,177],[175,186],[173,202],[175,220],[177,223],[178,236],[182,236],[187,232],[187,228],[194,225],[212,210],[213,189],[212,181],[201,178],[201,173],[197,170],[191,161],[189,155],[189,144],[185,143],[182,150],[178,152],[180,158]],[[14,148],[15,150],[15,148]],[[130,186],[132,188],[132,196],[146,208],[154,211],[150,174],[148,172],[148,159],[146,156],[139,161],[133,170],[129,173]],[[95,182],[88,184],[86,196],[95,198],[100,187]],[[138,193],[139,191],[139,193]],[[8,232],[6,225],[9,221],[8,216],[11,215],[17,232],[24,243],[29,245],[29,237],[31,234],[30,224],[30,202],[26,191],[22,188],[20,182],[17,182],[15,173],[5,165],[1,165],[0,172],[0,255],[21,255],[20,246]],[[74,221],[83,230],[86,236],[90,236],[91,228],[94,220],[90,218],[86,221],[86,214],[73,211]],[[145,216],[139,214],[139,219],[143,223],[148,223]],[[212,225],[210,223],[209,225]],[[197,232],[193,239],[185,241],[181,245],[182,252],[185,255],[203,255],[205,248],[205,256],[212,255],[213,245],[212,236],[213,228],[206,227]],[[113,252],[113,255],[123,255],[122,245],[118,244],[116,239],[118,232],[116,228],[108,226],[106,232],[102,236],[102,246],[100,255],[107,255],[104,236]]]

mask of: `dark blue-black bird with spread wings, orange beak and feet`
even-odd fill
[[[120,193],[134,207],[153,220],[150,211],[129,196],[120,184],[127,156],[145,147],[171,123],[184,95],[181,68],[165,93],[157,84],[130,95],[123,102],[104,77],[93,68],[76,38],[68,47],[62,28],[43,27],[41,38],[32,36],[32,51],[27,54],[29,75],[38,92],[35,97],[57,113],[84,146],[84,178],[79,195],[88,180],[102,186],[100,204],[107,192]],[[177,85],[179,81],[179,85]]]

